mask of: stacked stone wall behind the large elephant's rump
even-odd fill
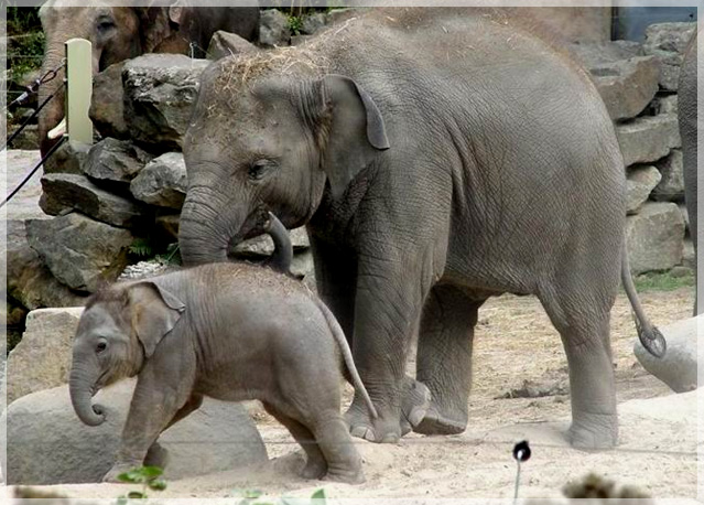
[[[572,47],[614,119],[627,175],[627,249],[632,273],[693,269],[685,240],[678,78],[696,23],[648,28],[643,44],[613,41]]]

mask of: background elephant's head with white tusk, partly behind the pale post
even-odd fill
[[[111,7],[107,1],[94,2],[91,7],[75,6],[69,0],[50,0],[40,9],[42,28],[46,34],[46,49],[42,74],[57,68],[64,57],[64,43],[69,39],[86,39],[93,44],[93,72],[107,68],[113,63],[152,52],[182,17],[178,3],[171,7]],[[56,93],[42,110],[39,119],[40,148],[42,153],[56,142],[65,131],[64,120],[64,72],[40,88],[40,103]]]

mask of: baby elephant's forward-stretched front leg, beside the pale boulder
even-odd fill
[[[118,475],[142,466],[159,434],[199,406],[199,400],[187,401],[187,394],[154,385],[154,380],[140,376],[122,431],[117,461],[102,477],[104,482],[120,482]]]

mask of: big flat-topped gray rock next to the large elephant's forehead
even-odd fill
[[[151,150],[181,150],[208,60],[144,54],[124,64],[124,117],[132,139]]]

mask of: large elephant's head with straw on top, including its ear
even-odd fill
[[[267,58],[224,58],[202,75],[184,140],[186,264],[224,261],[229,244],[262,233],[267,211],[288,228],[307,223],[326,187],[339,198],[389,148],[377,105],[355,80],[284,74]]]

